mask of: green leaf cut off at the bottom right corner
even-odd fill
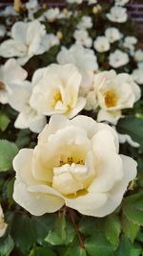
[[[140,253],[140,246],[131,244],[128,238],[123,237],[114,253],[114,256],[139,256]]]

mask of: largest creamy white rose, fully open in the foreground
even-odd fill
[[[13,198],[32,215],[64,204],[84,215],[104,217],[120,204],[136,175],[136,162],[118,154],[113,128],[92,118],[52,116],[34,149],[13,160]]]

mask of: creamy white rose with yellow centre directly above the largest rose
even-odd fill
[[[31,106],[44,115],[64,114],[69,118],[83,109],[86,100],[79,97],[82,76],[72,64],[51,64],[31,93]]]

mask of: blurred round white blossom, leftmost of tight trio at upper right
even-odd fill
[[[97,36],[93,42],[94,49],[99,53],[104,53],[110,50],[110,42],[106,36]]]

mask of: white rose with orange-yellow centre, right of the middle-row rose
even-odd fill
[[[101,72],[94,77],[94,90],[99,110],[97,120],[115,124],[121,117],[121,109],[131,108],[140,98],[140,88],[132,76],[114,70]]]

